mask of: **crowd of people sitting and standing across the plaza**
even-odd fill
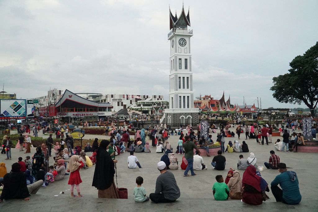
[[[163,126],[164,127],[164,126]],[[235,132],[240,139],[240,134],[244,133],[246,139],[256,139],[257,143],[264,145],[271,143],[271,130],[272,126],[263,125],[259,127],[256,123],[251,126],[239,125]],[[284,134],[287,132],[284,129]],[[95,164],[92,186],[98,189],[99,198],[119,198],[116,185],[114,183],[114,174],[117,159],[115,156],[129,152],[127,158],[127,166],[129,169],[142,168],[140,161],[134,155],[134,153],[151,153],[150,144],[146,141],[146,137],[149,136],[151,146],[156,148],[157,153],[164,153],[160,162],[157,163],[157,168],[160,172],[156,180],[155,192],[151,193],[149,197],[146,194],[146,190],[142,187],[143,178],[138,176],[136,178],[137,186],[133,190],[133,195],[136,202],[145,202],[149,199],[153,202],[174,202],[180,197],[180,189],[177,185],[174,174],[170,170],[178,169],[178,161],[176,155],[172,152],[173,147],[169,143],[170,136],[178,136],[178,142],[176,147],[176,154],[184,154],[182,159],[181,169],[184,169],[183,176],[195,176],[197,175],[194,170],[203,170],[207,168],[204,164],[203,157],[201,155],[201,149],[206,151],[209,157],[209,145],[219,142],[221,150],[218,151],[218,155],[214,156],[211,162],[212,168],[215,170],[225,170],[226,158],[222,153],[225,152],[249,152],[248,145],[245,141],[242,144],[238,140],[229,141],[225,149],[225,137],[227,135],[233,136],[228,126],[220,126],[220,132],[218,133],[217,140],[214,142],[211,135],[208,137],[201,136],[200,128],[195,132],[191,126],[180,127],[180,129],[169,133],[168,129],[161,126],[149,127],[146,134],[145,129],[136,129],[135,139],[130,139],[129,129],[112,129],[110,131],[110,139],[99,140],[96,138],[92,146],[87,143],[85,150],[82,151],[77,147],[73,148],[71,139],[66,135],[66,141],[62,139],[60,143],[53,145],[52,135],[47,139],[46,143],[36,148],[36,152],[33,156],[26,156],[18,158],[17,164],[12,165],[11,172],[5,174],[3,179],[0,175],[0,181],[3,184],[3,192],[0,197],[0,202],[3,199],[10,198],[23,198],[25,201],[29,200],[30,193],[36,193],[41,186],[47,186],[49,183],[62,180],[65,175],[70,174],[68,184],[71,186],[71,196],[82,197],[79,184],[82,182],[80,177],[80,169],[84,168],[87,164]],[[212,133],[215,133],[214,131]],[[297,151],[298,145],[301,145],[298,141],[300,138],[294,137],[290,139],[288,134],[283,134],[283,142],[288,144],[290,140],[294,141],[294,145]],[[259,135],[261,137],[259,137]],[[22,136],[22,134],[20,135]],[[235,136],[235,135],[234,135]],[[25,135],[21,137],[20,144],[27,144],[27,140],[30,136]],[[230,137],[230,136],[229,136]],[[5,139],[6,146],[10,149],[10,137]],[[30,138],[31,139],[31,138]],[[262,139],[262,140],[261,140]],[[285,140],[284,140],[285,139]],[[19,139],[20,141],[20,139]],[[276,142],[279,143],[280,141]],[[31,142],[30,142],[31,143]],[[276,145],[275,143],[275,148]],[[279,151],[284,150],[283,144],[279,148]],[[65,145],[65,146],[64,146]],[[26,145],[28,146],[28,144]],[[54,148],[53,148],[54,147]],[[64,148],[65,147],[65,148]],[[199,149],[200,148],[200,149]],[[73,151],[74,149],[74,151]],[[194,153],[195,150],[195,154]],[[21,150],[20,150],[21,151]],[[52,151],[54,151],[54,165],[49,166],[50,157],[52,157]],[[91,157],[87,157],[85,152],[93,152]],[[11,154],[8,151],[8,159],[11,159]],[[91,162],[89,162],[91,161]],[[213,184],[212,193],[215,200],[242,200],[250,205],[259,205],[263,201],[268,199],[266,192],[269,192],[269,187],[277,202],[284,202],[287,204],[298,204],[301,201],[301,194],[299,192],[298,178],[295,172],[287,170],[286,164],[280,162],[280,158],[275,154],[273,150],[270,151],[269,161],[264,165],[267,169],[278,169],[280,175],[271,182],[268,183],[262,178],[258,171],[257,158],[254,153],[250,153],[249,157],[245,159],[243,155],[239,155],[237,162],[237,170],[230,169],[225,181],[222,175],[215,177],[216,182]],[[0,163],[0,174],[4,173],[2,167],[5,164]],[[3,169],[4,170],[4,169]],[[188,174],[190,171],[190,174]],[[244,171],[244,174],[240,175],[240,171]],[[16,174],[18,173],[18,174]],[[19,180],[18,191],[13,191],[16,187],[10,188],[13,182]],[[20,182],[21,181],[21,182]],[[169,183],[168,183],[169,182]],[[280,188],[278,187],[280,184]],[[28,185],[31,185],[31,190]],[[77,195],[74,195],[74,187],[76,187]],[[29,189],[29,190],[28,190]],[[19,193],[19,195],[17,195]]]

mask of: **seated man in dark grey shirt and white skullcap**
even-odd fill
[[[156,203],[174,202],[180,197],[180,189],[177,185],[175,176],[167,171],[165,162],[160,161],[157,164],[160,175],[156,180],[155,193],[151,193],[149,198]]]

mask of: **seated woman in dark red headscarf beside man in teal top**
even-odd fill
[[[266,187],[261,186],[262,179],[262,177],[256,175],[256,169],[254,166],[249,165],[246,168],[242,180],[242,202],[250,205],[260,205],[263,203],[263,200],[266,200],[262,195],[262,193],[266,190]],[[265,190],[262,190],[262,187]]]

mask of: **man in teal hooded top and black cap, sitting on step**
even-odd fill
[[[278,170],[280,174],[271,182],[271,189],[276,202],[298,204],[301,201],[301,194],[296,172],[287,171],[285,163],[279,163]],[[278,184],[280,184],[281,189]]]

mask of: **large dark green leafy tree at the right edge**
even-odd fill
[[[303,102],[314,117],[318,103],[318,42],[289,65],[289,73],[273,77],[273,97],[281,103]]]

